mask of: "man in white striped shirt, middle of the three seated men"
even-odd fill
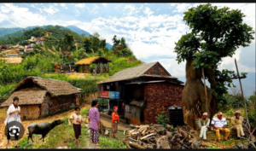
[[[227,125],[227,120],[222,117],[222,112],[218,112],[217,114],[218,118],[212,119],[212,127],[213,130],[216,132],[217,140],[220,142],[220,135],[219,131],[224,132],[224,140],[228,140],[228,136],[230,135],[230,130],[225,128]]]

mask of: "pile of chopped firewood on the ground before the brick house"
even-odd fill
[[[167,125],[131,125],[133,130],[127,131],[127,139],[122,141],[128,148],[203,148],[192,134],[177,126],[177,131]]]

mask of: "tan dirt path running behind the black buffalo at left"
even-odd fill
[[[86,104],[82,107],[80,107],[81,109],[84,109],[84,108],[89,108],[90,105],[89,104]],[[69,116],[71,113],[73,113],[73,110],[70,110],[70,111],[67,111],[65,113],[60,113],[60,114],[56,114],[56,115],[53,115],[53,116],[49,116],[47,118],[44,118],[44,119],[36,119],[36,120],[26,120],[26,121],[21,121],[21,124],[24,126],[24,129],[25,129],[25,133],[24,133],[24,137],[26,137],[26,133],[27,133],[27,126],[28,125],[31,125],[32,123],[43,123],[43,122],[52,122],[54,121],[55,119],[63,119],[65,118],[66,116]],[[5,125],[3,123],[0,124],[0,148],[5,148],[6,146],[6,143],[7,143],[7,139],[6,139],[6,136],[4,135],[4,127]],[[22,139],[21,138],[21,139]],[[10,141],[10,144],[12,145],[13,142]]]

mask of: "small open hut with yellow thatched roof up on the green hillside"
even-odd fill
[[[78,66],[77,73],[93,73],[93,70],[96,73],[109,73],[108,62],[112,61],[102,56],[94,56],[78,61],[75,65]]]

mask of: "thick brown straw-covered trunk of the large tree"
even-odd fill
[[[217,108],[217,103],[215,100],[212,100],[212,91],[210,90],[207,90],[206,99],[204,84],[201,80],[201,71],[194,69],[192,63],[192,59],[186,62],[186,83],[183,88],[182,101],[184,122],[190,127],[197,129],[195,119],[201,118],[200,115],[204,112],[207,112],[208,117],[212,118]],[[206,71],[205,74],[208,75]]]

